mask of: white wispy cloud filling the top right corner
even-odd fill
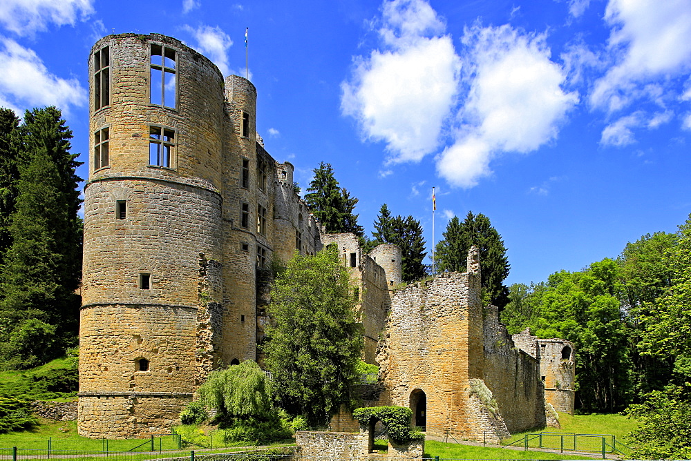
[[[608,50],[615,65],[596,81],[594,107],[619,110],[641,97],[640,84],[691,68],[688,0],[609,0],[605,21],[612,28]]]

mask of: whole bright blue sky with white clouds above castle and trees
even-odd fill
[[[267,150],[303,188],[330,162],[368,232],[387,203],[430,244],[435,186],[435,241],[484,213],[529,283],[691,212],[691,0],[3,0],[0,106],[58,106],[86,154],[97,39],[245,76],[245,28]]]

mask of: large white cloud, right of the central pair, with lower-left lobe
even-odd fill
[[[440,156],[437,172],[468,188],[489,175],[494,155],[529,153],[555,139],[578,95],[562,90],[565,72],[549,59],[543,35],[521,35],[508,25],[475,26],[463,42],[474,71],[465,123]]]

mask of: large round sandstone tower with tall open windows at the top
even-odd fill
[[[105,37],[88,67],[79,433],[168,433],[223,304],[223,76],[155,34]]]

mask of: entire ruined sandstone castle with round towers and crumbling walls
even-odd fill
[[[480,304],[477,257],[467,273],[392,301],[400,249],[365,254],[354,235],[323,232],[296,193],[293,166],[278,164],[256,134],[249,81],[224,79],[206,57],[156,34],[104,37],[88,68],[81,435],[169,433],[209,371],[261,360],[270,262],[327,244],[359,286],[364,359],[379,362],[385,389],[378,404],[413,406],[439,433],[475,436],[501,415],[509,431],[544,420],[543,340],[528,334],[520,346],[531,351],[513,348],[495,308]],[[567,347],[559,344],[549,349],[556,369]],[[546,382],[555,394],[573,389],[570,360],[571,380],[560,375],[568,385]],[[492,421],[467,403],[482,386],[499,404]]]

